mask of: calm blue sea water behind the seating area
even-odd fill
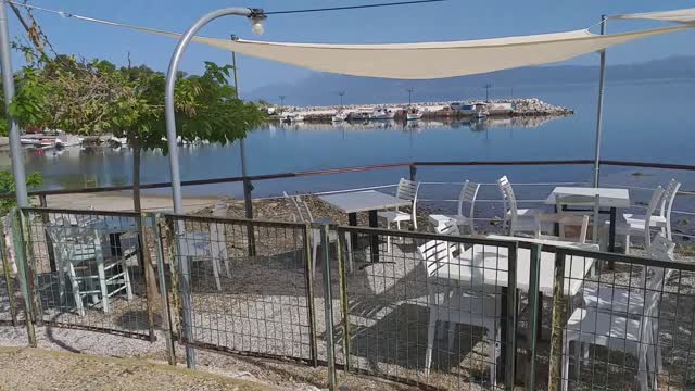
[[[695,80],[608,84],[605,98],[603,157],[695,164]],[[464,91],[465,92],[465,91]],[[387,123],[370,126],[268,125],[247,138],[249,173],[271,174],[404,161],[492,161],[592,159],[596,116],[595,85],[553,88],[515,87],[518,97],[538,97],[576,111],[548,121],[493,119],[486,123]],[[0,164],[9,159],[0,156]],[[131,152],[109,148],[68,149],[60,154],[27,151],[27,172],[40,172],[45,188],[125,185],[130,182]],[[195,146],[180,150],[181,177],[217,178],[241,174],[239,146]],[[591,167],[445,167],[420,168],[427,181],[492,182],[503,174],[515,182],[586,181]],[[281,191],[318,191],[383,185],[407,175],[407,168],[341,174],[254,184],[255,195]],[[606,168],[605,184],[652,186],[681,178],[693,188],[693,176],[679,172]],[[147,152],[142,181],[167,181],[168,161]],[[163,190],[167,192],[168,190]],[[521,189],[521,192],[525,190]],[[530,190],[529,190],[530,191]],[[534,190],[538,191],[538,190]],[[241,194],[239,185],[186,188],[188,194]],[[454,198],[455,187],[424,189],[432,198]],[[539,195],[540,197],[540,195]],[[522,198],[522,195],[520,197]]]

